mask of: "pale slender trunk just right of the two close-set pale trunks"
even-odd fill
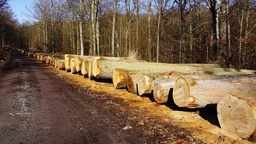
[[[116,14],[117,14],[117,0],[113,0],[114,14],[113,14],[113,24],[112,24],[112,39],[111,39],[111,56],[114,56],[115,50],[115,27],[116,27]]]

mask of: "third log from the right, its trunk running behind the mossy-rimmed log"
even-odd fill
[[[172,97],[172,91],[175,81],[180,77],[189,77],[201,80],[219,80],[225,82],[238,82],[250,83],[251,81],[245,81],[244,79],[254,79],[256,80],[256,75],[173,75],[170,81],[167,83],[156,83],[153,90],[153,95],[157,103],[166,103],[168,98]],[[256,83],[256,81],[253,81]],[[252,82],[251,82],[252,83]]]

